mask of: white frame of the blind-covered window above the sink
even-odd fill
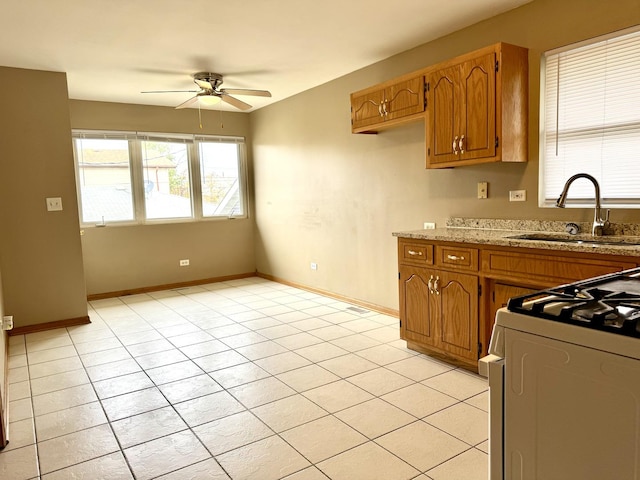
[[[583,49],[589,46],[595,46],[596,44],[600,44],[602,42],[606,42],[609,40],[625,37],[631,34],[640,34],[640,26],[634,26],[630,28],[626,28],[623,30],[614,31],[605,35],[600,35],[597,37],[593,37],[590,39],[586,39],[580,42],[572,43],[569,45],[565,45],[563,47],[555,48],[552,50],[548,50],[542,53],[540,60],[540,98],[539,98],[539,137],[538,137],[538,147],[539,147],[539,161],[538,161],[538,206],[541,208],[552,208],[556,206],[556,198],[547,198],[546,185],[545,185],[545,174],[548,162],[550,161],[546,157],[547,150],[547,131],[546,131],[546,115],[547,115],[547,58],[552,55],[561,55],[565,52],[571,52]],[[635,91],[635,90],[634,90]],[[640,95],[640,89],[638,91],[638,95]],[[557,107],[551,107],[557,108]],[[606,127],[603,127],[603,131]],[[558,130],[558,132],[562,132],[562,130]],[[600,159],[601,168],[604,167],[603,158]],[[574,172],[578,173],[578,172]],[[591,173],[588,170],[584,170],[584,173]],[[593,174],[593,173],[592,173]],[[563,181],[566,181],[569,176]],[[595,175],[597,177],[597,175]],[[601,182],[602,183],[602,182]],[[589,185],[589,189],[592,187]],[[602,188],[602,184],[601,184]],[[560,195],[560,190],[557,192],[557,195]],[[591,198],[569,198],[566,202],[567,208],[592,208],[593,207],[593,197]],[[602,198],[603,206],[610,208],[640,208],[640,195],[635,198],[612,198],[606,197],[603,195]]]

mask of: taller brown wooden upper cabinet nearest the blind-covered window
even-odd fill
[[[427,75],[427,168],[526,162],[527,49],[499,43]]]

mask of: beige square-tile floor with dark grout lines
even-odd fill
[[[397,319],[249,278],[10,338],[3,480],[487,478],[484,379]]]

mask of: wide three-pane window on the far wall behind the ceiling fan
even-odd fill
[[[238,218],[244,139],[74,131],[81,223]]]

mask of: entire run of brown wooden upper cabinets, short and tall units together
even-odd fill
[[[528,51],[497,43],[351,94],[351,131],[425,120],[427,168],[526,162]]]

